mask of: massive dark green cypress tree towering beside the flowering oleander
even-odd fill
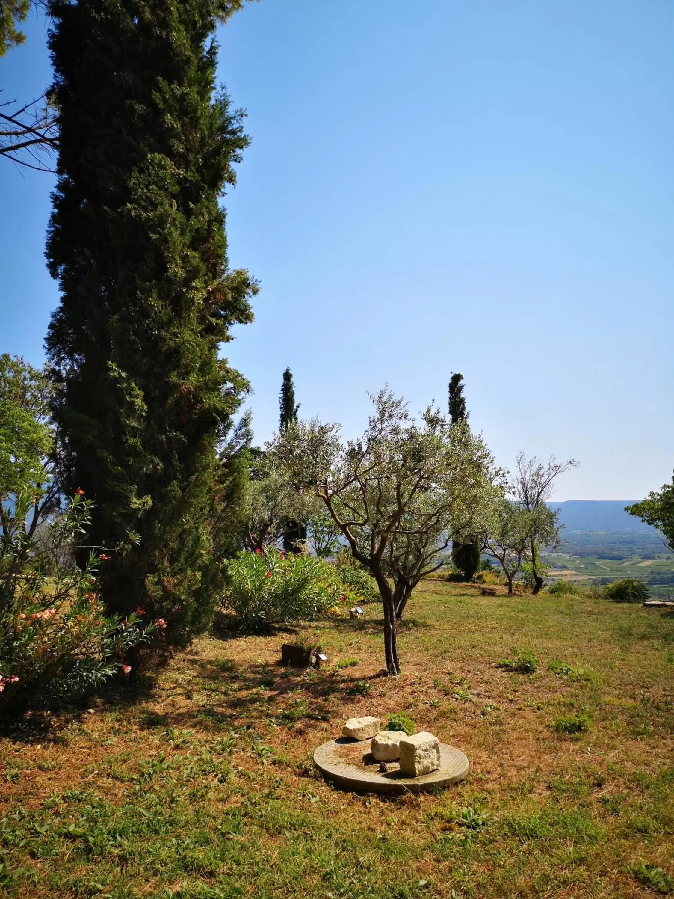
[[[60,132],[47,258],[61,303],[47,348],[67,490],[112,610],[142,605],[186,642],[208,622],[216,446],[247,387],[218,359],[252,320],[218,197],[248,140],[215,94],[217,18],[240,0],[51,0]]]

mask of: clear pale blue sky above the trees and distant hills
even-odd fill
[[[7,99],[49,82],[44,20],[27,31]],[[670,479],[670,0],[263,0],[218,40],[253,138],[226,207],[262,290],[226,352],[257,440],[287,365],[300,414],[350,435],[368,391],[444,405],[461,371],[501,464],[581,460],[556,499]],[[51,186],[0,160],[0,352],[36,363]]]

